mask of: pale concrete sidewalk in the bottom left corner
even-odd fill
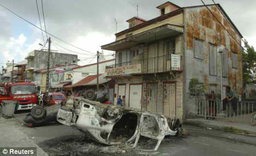
[[[36,147],[37,155],[47,156],[48,154],[40,148],[32,138],[22,133],[22,126],[16,118],[5,119],[0,114],[0,147]]]

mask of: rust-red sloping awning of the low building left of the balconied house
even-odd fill
[[[100,74],[98,77],[99,84],[106,83],[109,80],[110,79],[104,78],[103,74]],[[68,85],[65,88],[73,88],[73,87],[79,87],[79,86],[93,86],[93,85],[97,85],[97,75],[86,76],[83,80],[75,83],[74,85]]]

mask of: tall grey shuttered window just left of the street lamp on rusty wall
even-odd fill
[[[209,45],[209,70],[210,75],[217,76],[217,47],[216,45]]]

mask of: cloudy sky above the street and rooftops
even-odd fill
[[[37,1],[42,26],[44,26],[42,3],[41,0]],[[165,2],[166,0],[43,0],[46,30],[91,53],[75,49],[55,38],[52,38],[54,43],[52,49],[73,53],[58,47],[56,45],[58,44],[66,49],[84,53],[84,55],[78,55],[79,59],[84,60],[80,62],[80,65],[95,62],[92,53],[96,53],[97,50],[101,51],[101,45],[115,40],[114,19],[118,22],[119,32],[128,27],[125,22],[127,19],[137,15],[136,5],[139,8],[138,16],[150,20],[159,16],[158,9],[155,7]],[[200,0],[170,0],[170,2],[181,7],[202,4]],[[215,2],[222,5],[249,44],[256,47],[256,29],[254,28],[256,1],[215,0]],[[205,3],[211,4],[212,1],[205,0]],[[40,27],[36,0],[0,0],[0,4]],[[23,61],[29,52],[40,49],[39,43],[44,43],[39,29],[22,21],[2,7],[0,7],[0,19],[0,63],[12,59],[15,62]],[[104,51],[107,58],[112,58],[110,56],[112,53]]]

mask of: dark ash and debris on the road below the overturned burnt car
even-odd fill
[[[175,140],[181,136],[168,136],[164,139],[160,146],[170,143],[175,143]],[[154,149],[157,140],[148,139],[141,136],[136,148],[132,148],[132,143],[124,143],[120,145],[107,146],[97,143],[84,136],[62,136],[56,139],[51,139],[39,143],[39,146],[44,149],[50,156],[59,155],[152,155],[152,152],[141,151],[140,149]],[[157,152],[159,154],[159,152]]]

